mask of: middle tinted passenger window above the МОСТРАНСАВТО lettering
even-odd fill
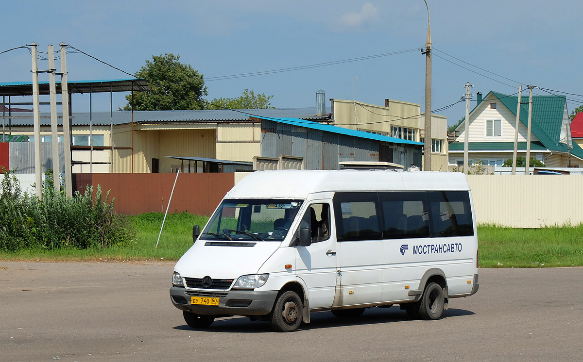
[[[424,192],[383,192],[384,239],[429,237],[429,214]]]

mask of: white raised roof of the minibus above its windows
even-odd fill
[[[395,170],[278,170],[245,176],[225,198],[305,199],[325,191],[469,190],[461,172]]]

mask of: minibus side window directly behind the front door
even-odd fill
[[[377,193],[336,193],[333,203],[339,242],[382,238]]]

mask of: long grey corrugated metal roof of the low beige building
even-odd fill
[[[135,123],[194,123],[194,122],[219,122],[226,120],[249,121],[250,116],[257,117],[294,117],[301,119],[329,119],[329,116],[315,116],[316,108],[270,108],[270,109],[213,109],[205,111],[134,111]],[[29,118],[13,118],[13,126],[32,126],[33,114],[31,112],[12,112],[13,116],[27,116]],[[50,116],[51,113],[41,113],[41,116]],[[61,113],[59,113],[59,116]],[[8,116],[8,112],[6,112]],[[73,112],[73,126],[89,125],[89,112]],[[1,118],[1,115],[0,115]],[[110,125],[110,112],[92,112],[92,125]],[[8,119],[6,119],[8,124]],[[131,111],[113,112],[114,125],[122,125],[132,122]],[[50,125],[50,118],[41,118],[41,125]],[[62,124],[62,119],[59,119]]]

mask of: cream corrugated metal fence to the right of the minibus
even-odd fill
[[[468,175],[476,219],[514,228],[583,223],[583,175]]]

